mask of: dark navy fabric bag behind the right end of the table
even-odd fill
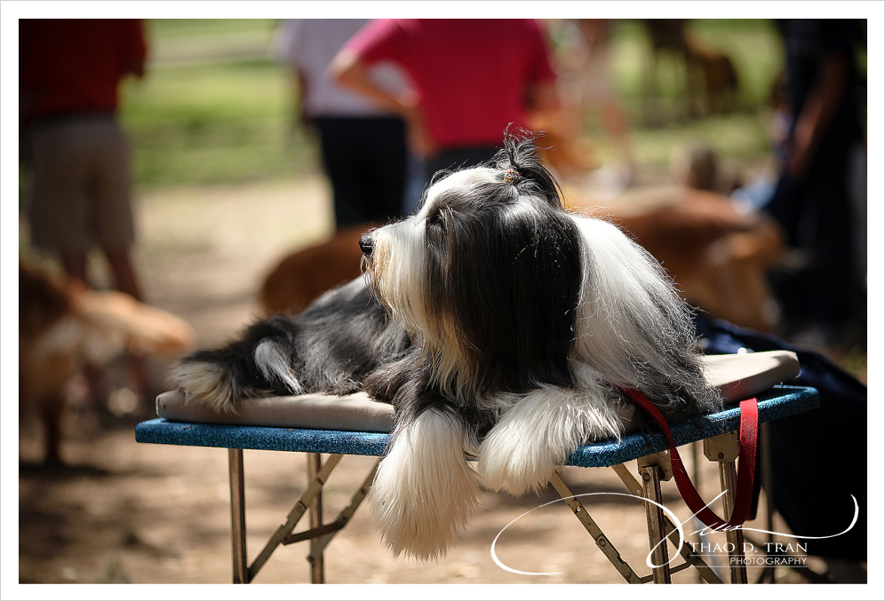
[[[769,422],[772,491],[777,512],[809,555],[850,561],[866,559],[866,387],[819,352],[776,336],[738,328],[723,320],[695,317],[706,354],[785,350],[795,352],[800,375],[785,384],[811,386],[820,407]],[[854,517],[857,524],[845,530]]]

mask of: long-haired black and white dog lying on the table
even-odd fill
[[[528,140],[437,178],[416,215],[360,246],[364,280],[195,352],[174,379],[219,411],[304,392],[393,403],[371,504],[395,554],[442,557],[480,481],[538,490],[580,444],[618,436],[621,389],[669,418],[720,407],[660,265],[614,225],[562,210]]]

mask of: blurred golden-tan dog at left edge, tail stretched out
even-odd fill
[[[45,461],[60,462],[60,421],[67,387],[86,363],[101,365],[121,352],[186,351],[193,329],[179,317],[116,290],[60,283],[19,265],[19,412],[36,413],[45,432]]]

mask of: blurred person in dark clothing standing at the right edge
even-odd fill
[[[783,20],[777,27],[793,121],[766,210],[797,260],[775,286],[788,335],[825,347],[850,344],[864,311],[865,274],[854,245],[863,233],[849,186],[852,162],[865,148],[855,60],[860,27],[857,20]]]

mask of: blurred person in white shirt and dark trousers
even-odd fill
[[[331,59],[367,22],[284,20],[275,42],[276,56],[293,74],[300,119],[319,137],[338,228],[386,223],[403,212],[408,167],[403,119],[342,88],[328,70]],[[391,64],[372,68],[366,77],[390,94],[405,87]]]

